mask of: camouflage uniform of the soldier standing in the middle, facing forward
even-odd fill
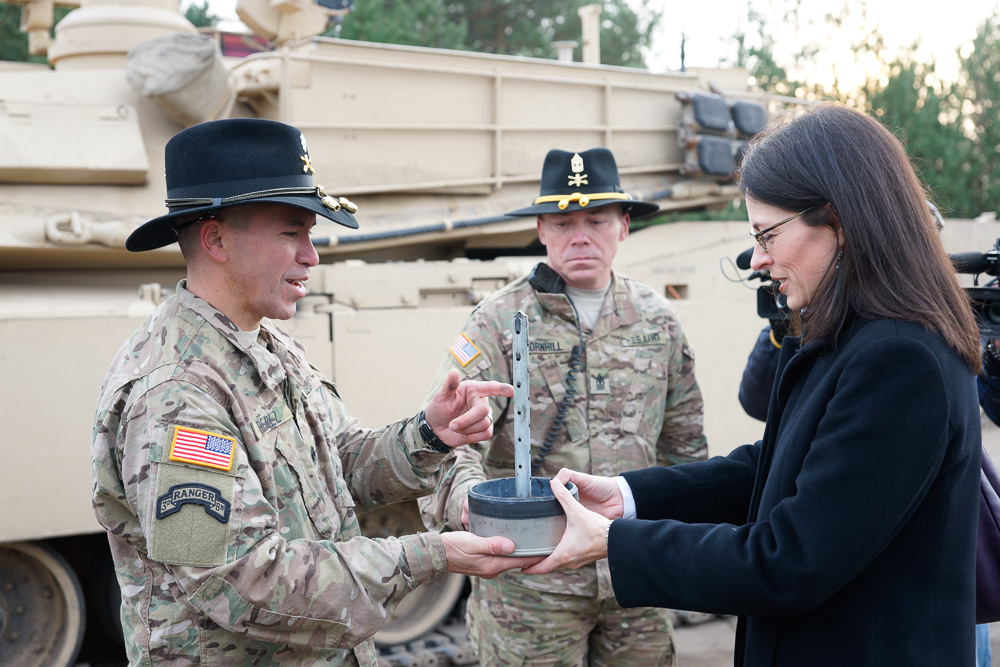
[[[458,368],[469,378],[509,382],[511,320],[518,310],[528,317],[535,459],[569,391],[570,352],[580,344],[565,295],[536,292],[527,278],[504,287],[473,312],[439,375]],[[594,331],[584,333],[584,346],[565,431],[533,475],[551,477],[562,467],[618,475],[705,458],[694,361],[666,299],[613,274]],[[429,528],[461,530],[469,488],[484,479],[514,475],[511,403],[493,399],[493,439],[457,450],[436,493],[420,501]],[[468,621],[484,664],[673,662],[673,629],[666,610],[621,609],[606,560],[545,576],[506,572],[492,581],[474,579]]]

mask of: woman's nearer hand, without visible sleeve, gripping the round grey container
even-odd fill
[[[578,503],[558,478],[553,479],[550,485],[552,495],[566,512],[566,532],[555,550],[542,562],[524,568],[524,574],[547,574],[559,568],[581,567],[608,555],[605,535],[610,521],[607,517]]]

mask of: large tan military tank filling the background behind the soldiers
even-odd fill
[[[535,221],[503,212],[536,196],[548,149],[607,146],[637,198],[721,208],[738,197],[743,142],[789,102],[750,91],[741,70],[654,74],[317,37],[332,10],[303,2],[240,0],[253,34],[199,33],[176,0],[69,4],[51,42],[51,0],[24,4],[48,65],[0,66],[5,665],[97,662],[107,637],[120,641],[90,504],[90,431],[109,360],[183,275],[176,247],[124,250],[164,210],[163,148],[177,131],[225,117],[293,124],[317,183],[357,207],[357,232],[314,231],[322,263],[286,328],[378,426],[416,412],[472,307],[538,261]],[[713,453],[761,428],[736,402],[754,301],[719,270],[749,246],[746,231],[654,226],[616,261],[676,300]],[[373,375],[391,376],[391,389]],[[372,536],[422,530],[412,505],[363,520]],[[465,664],[461,629],[446,623],[463,586],[443,577],[408,597],[376,637],[386,660]]]

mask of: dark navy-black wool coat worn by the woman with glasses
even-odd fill
[[[763,440],[625,473],[615,596],[739,615],[737,667],[974,664],[975,376],[910,322],[788,342]]]

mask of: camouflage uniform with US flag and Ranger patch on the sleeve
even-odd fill
[[[360,428],[291,337],[253,339],[182,281],[93,433],[130,663],[375,665],[370,637],[446,570],[440,535],[367,539],[355,516],[438,481],[414,422]]]

